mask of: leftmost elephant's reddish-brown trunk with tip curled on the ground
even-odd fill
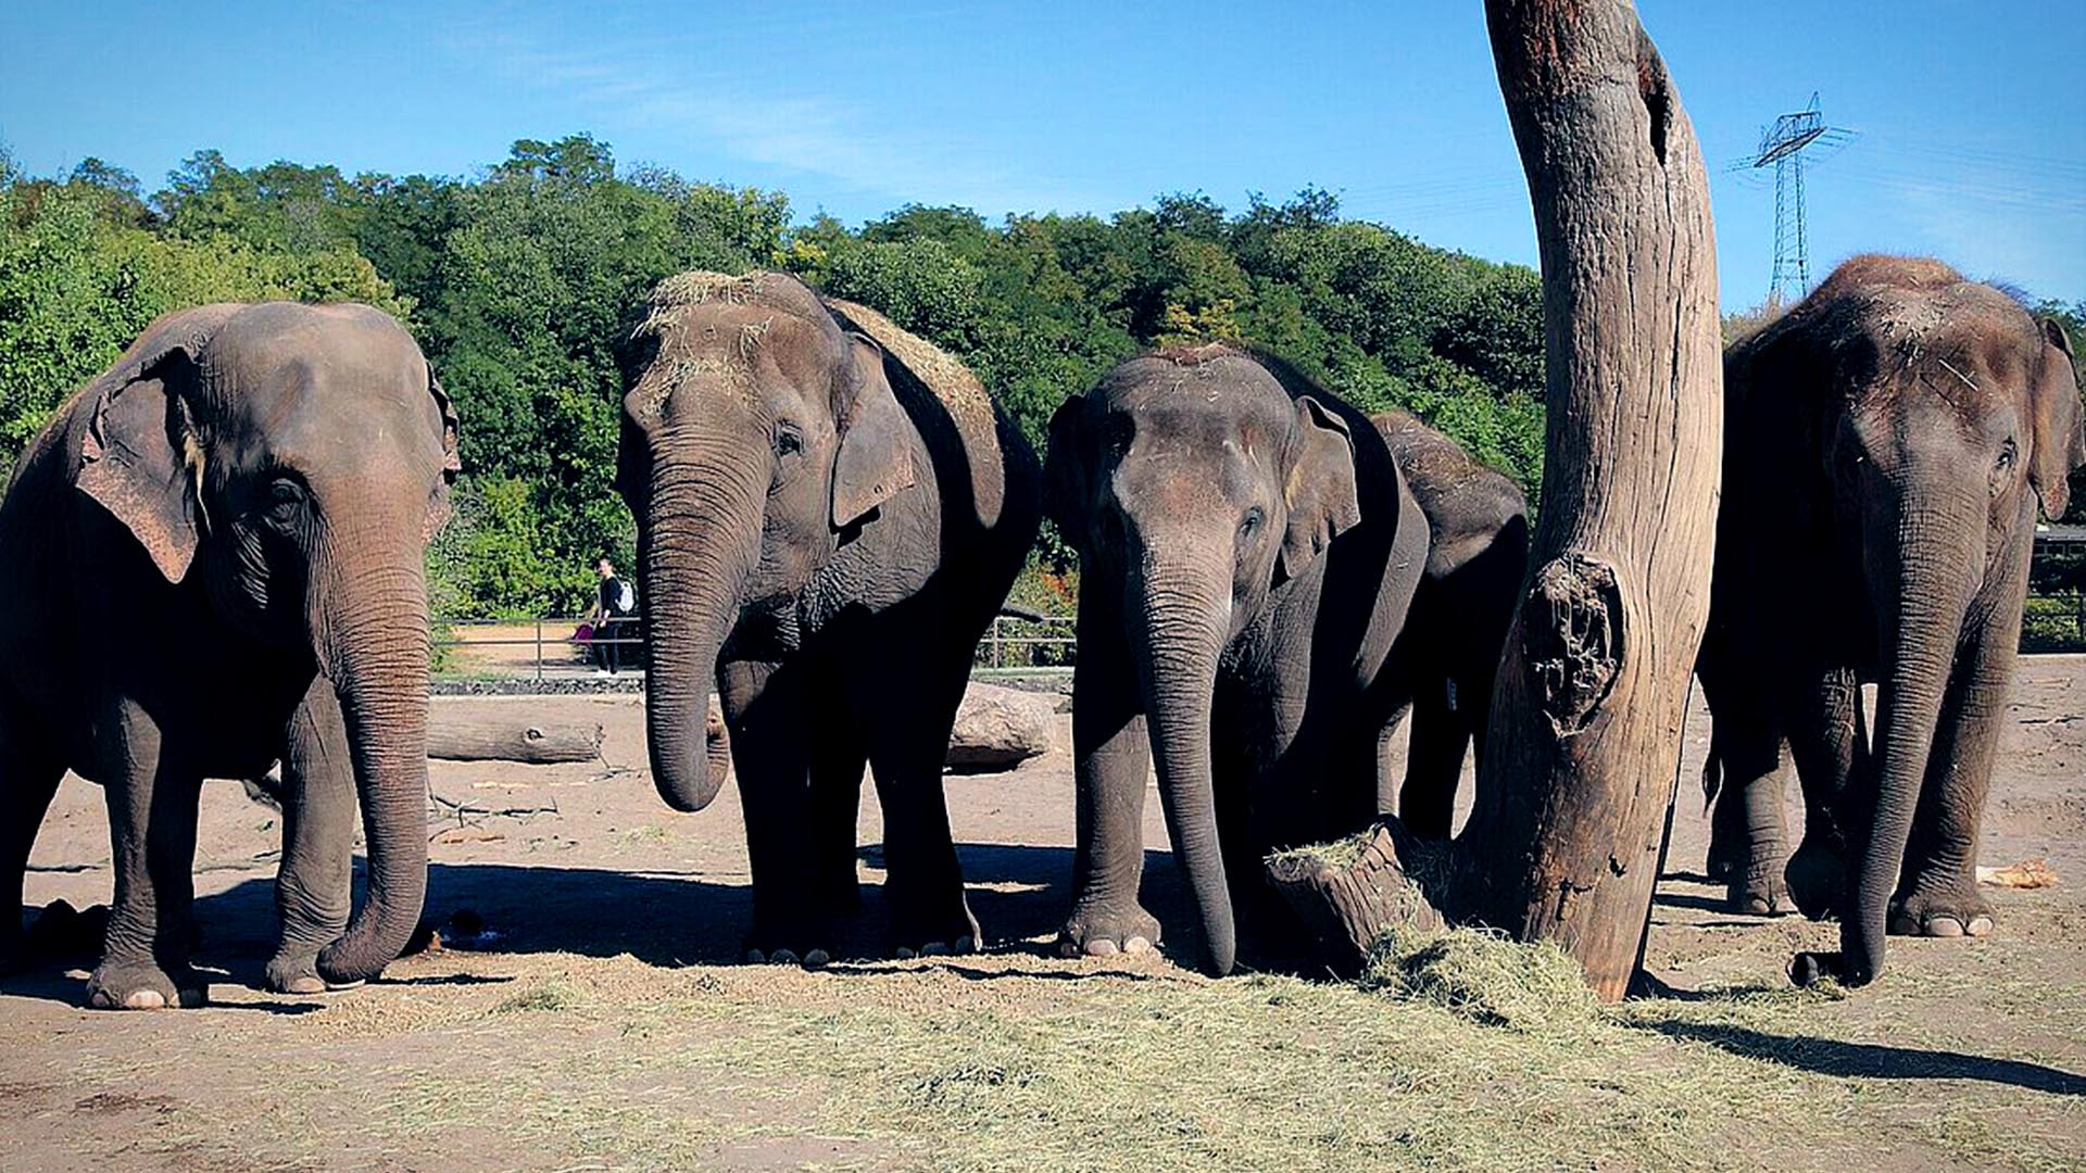
[[[338,561],[317,643],[346,718],[369,887],[319,977],[346,985],[405,950],[428,895],[428,582],[417,545],[375,568]]]

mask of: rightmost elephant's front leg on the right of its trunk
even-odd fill
[[[2019,616],[2017,605],[2013,614]],[[1978,837],[2017,643],[2017,618],[2011,624],[1992,620],[1957,662],[1892,900],[1892,933],[1984,937],[1992,931],[1992,906],[1978,893]]]

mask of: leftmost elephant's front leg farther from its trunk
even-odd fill
[[[202,776],[163,753],[159,728],[144,714],[127,710],[115,720],[125,764],[106,785],[117,891],[88,1004],[200,1006],[204,985],[188,966],[188,941]]]

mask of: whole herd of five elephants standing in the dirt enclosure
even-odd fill
[[[647,739],[676,810],[730,731],[749,960],[820,964],[857,908],[864,768],[893,952],[964,952],[941,764],[972,653],[1047,516],[1078,553],[1066,954],[1147,950],[1154,768],[1199,958],[1279,937],[1266,852],[1402,814],[1446,837],[1529,553],[1512,482],[1233,344],[1133,357],[1049,424],[784,273],[661,282],[628,340]],[[2086,461],[2069,340],[1934,261],[1857,257],[1731,346],[1711,624],[1713,870],[1733,908],[1884,933],[1992,927],[1971,868],[2038,501]],[[467,424],[467,422],[465,422]],[[190,1006],[198,791],[284,766],[275,989],[378,975],[428,883],[423,547],[457,415],[355,305],[154,321],[73,394],[0,505],[0,908],[65,770],[108,797],[115,902],[88,1002]],[[1875,683],[1873,718],[1861,685]],[[1383,743],[1410,714],[1404,779]],[[1786,856],[1794,760],[1804,839]],[[355,820],[369,883],[350,897]],[[353,912],[353,914],[350,914]],[[1289,929],[1293,931],[1293,929]],[[0,968],[27,958],[0,916]]]

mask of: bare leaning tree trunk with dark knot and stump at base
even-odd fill
[[[1487,0],[1535,205],[1548,436],[1529,580],[1452,845],[1270,864],[1362,948],[1429,918],[1550,939],[1625,994],[1658,879],[1715,538],[1717,257],[1694,127],[1629,0]],[[1366,933],[1366,935],[1364,935]]]

